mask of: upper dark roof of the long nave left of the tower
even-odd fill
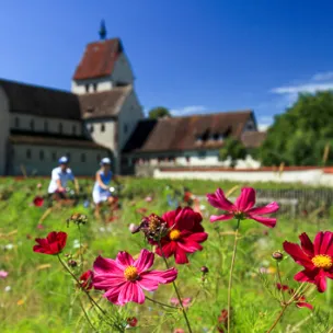
[[[0,79],[10,112],[35,116],[81,119],[78,96],[66,91]]]

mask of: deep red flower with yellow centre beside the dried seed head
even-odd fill
[[[177,264],[188,263],[187,253],[202,251],[203,243],[208,233],[204,232],[202,216],[192,208],[177,208],[163,215],[163,220],[170,229],[169,233],[161,239],[161,246],[165,257],[174,255]],[[157,248],[156,253],[162,256],[161,250]]]

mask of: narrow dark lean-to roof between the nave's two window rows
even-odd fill
[[[11,131],[9,141],[13,145],[32,145],[32,146],[58,146],[58,147],[74,147],[88,149],[107,149],[83,137],[69,136],[51,136],[46,133],[19,133]]]

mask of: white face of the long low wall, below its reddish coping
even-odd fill
[[[163,171],[154,170],[156,179],[198,179],[234,182],[276,182],[303,183],[310,185],[333,186],[333,174],[322,170],[285,171],[282,174],[273,171]]]

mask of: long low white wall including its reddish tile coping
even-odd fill
[[[213,181],[302,183],[333,186],[331,169],[318,166],[289,166],[279,172],[276,168],[223,169],[223,168],[160,168],[153,171],[156,179],[198,179]]]

